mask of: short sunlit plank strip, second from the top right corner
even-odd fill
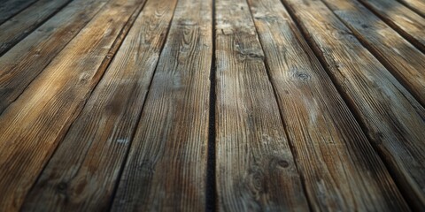
[[[396,0],[359,0],[390,27],[425,52],[425,18]]]

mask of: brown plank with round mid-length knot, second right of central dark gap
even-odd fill
[[[280,1],[248,2],[313,211],[409,210]]]

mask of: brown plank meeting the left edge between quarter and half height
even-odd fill
[[[106,1],[73,1],[0,57],[0,113],[22,94]]]

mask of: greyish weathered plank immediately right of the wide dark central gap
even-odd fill
[[[308,210],[248,5],[217,0],[215,11],[218,208]]]

